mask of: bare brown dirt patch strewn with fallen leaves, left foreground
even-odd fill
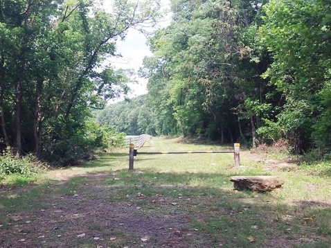
[[[8,224],[0,227],[0,247],[201,247],[198,241],[192,246],[198,235],[188,225],[190,217],[169,200],[158,198],[161,208],[174,209],[170,215],[109,202],[112,187],[100,184],[106,177],[89,175],[84,184],[61,181],[44,188],[38,200],[26,203],[28,211],[2,217]]]

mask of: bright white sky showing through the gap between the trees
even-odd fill
[[[170,8],[170,0],[163,0],[162,5],[165,8]],[[163,20],[161,20],[159,26],[164,27],[170,24],[171,16],[165,16]],[[145,35],[140,33],[138,30],[130,29],[125,37],[124,41],[118,41],[117,43],[117,53],[120,53],[122,57],[111,57],[109,62],[111,65],[117,69],[134,69],[136,73],[138,69],[143,65],[143,58],[145,56],[151,56],[152,53],[148,48],[147,39]],[[138,84],[130,84],[129,87],[132,89],[132,93],[129,94],[129,98],[133,98],[135,96],[140,96],[142,94],[147,93],[147,79],[138,78],[136,76],[136,80]],[[117,99],[114,102],[117,102]]]

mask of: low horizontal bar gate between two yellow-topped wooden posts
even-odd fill
[[[186,154],[186,153],[233,153],[235,167],[240,166],[240,143],[234,144],[233,151],[192,151],[192,152],[138,152],[134,149],[134,144],[129,145],[129,170],[134,169],[134,157],[138,154]]]

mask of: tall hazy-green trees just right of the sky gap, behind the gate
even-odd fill
[[[181,133],[233,142],[267,111],[269,54],[256,37],[262,2],[172,1],[173,20],[150,39],[149,98]],[[153,62],[153,63],[151,63]],[[161,95],[161,96],[160,96]],[[253,102],[254,106],[249,104]],[[165,115],[162,115],[165,118]],[[245,125],[246,124],[246,125]]]

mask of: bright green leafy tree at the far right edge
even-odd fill
[[[265,11],[260,29],[274,62],[264,76],[285,99],[276,125],[271,125],[298,153],[317,143],[330,148],[330,4],[273,0]]]

